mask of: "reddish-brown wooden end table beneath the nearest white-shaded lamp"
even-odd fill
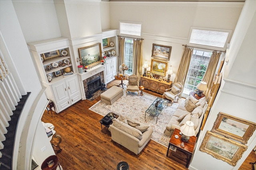
[[[176,139],[175,135],[178,135],[179,138]],[[180,147],[180,144],[182,142],[184,143],[184,148]],[[168,146],[166,156],[168,156],[170,146],[176,147],[177,150],[180,150],[181,152],[183,152],[184,154],[186,154],[188,156],[187,157],[187,162],[186,162],[186,168],[188,168],[188,166],[190,164],[192,154],[193,154],[193,151],[194,151],[195,143],[196,143],[196,137],[195,136],[190,137],[190,139],[187,142],[182,141],[181,140],[181,135],[180,135],[180,130],[175,128],[174,132],[172,133],[171,139],[169,141],[169,146]]]

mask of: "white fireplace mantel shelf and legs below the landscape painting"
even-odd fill
[[[104,77],[104,82],[106,82],[105,78],[106,78],[106,72],[105,72],[105,68],[106,68],[106,65],[102,65],[102,64],[99,64],[97,66],[94,66],[93,68],[90,68],[87,70],[87,72],[83,72],[83,74],[80,74],[78,73],[78,78],[79,78],[79,83],[80,83],[80,88],[81,88],[81,94],[82,94],[82,100],[86,100],[86,96],[85,96],[85,92],[84,92],[84,84],[83,84],[83,80],[95,75],[95,74],[98,74],[100,72],[103,71],[103,77]]]

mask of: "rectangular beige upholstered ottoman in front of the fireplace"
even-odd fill
[[[100,95],[100,99],[105,104],[112,105],[116,100],[118,100],[121,96],[124,95],[123,89],[117,86],[112,86],[110,89],[106,90],[106,92]]]

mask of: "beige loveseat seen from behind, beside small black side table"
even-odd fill
[[[113,119],[113,123],[108,129],[111,132],[113,141],[135,154],[139,154],[147,145],[153,133],[152,127],[122,115],[117,119]]]

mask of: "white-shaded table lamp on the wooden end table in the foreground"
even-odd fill
[[[191,136],[196,134],[194,130],[194,123],[192,121],[186,121],[186,123],[180,127],[180,131],[182,133],[181,140],[184,142],[187,142]]]

